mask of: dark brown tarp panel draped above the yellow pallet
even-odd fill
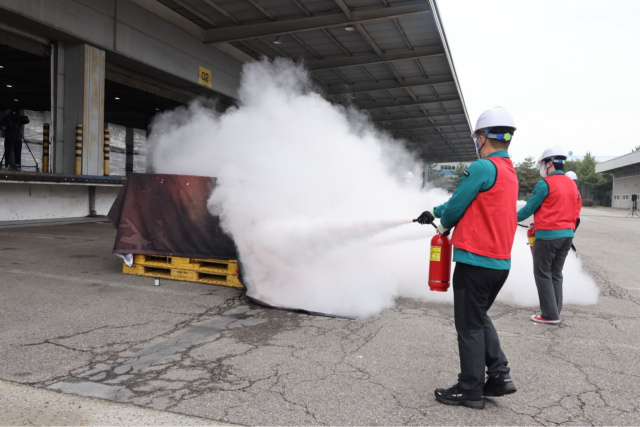
[[[215,185],[202,176],[130,175],[107,215],[118,230],[113,253],[237,259],[207,210]]]

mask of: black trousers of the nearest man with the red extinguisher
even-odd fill
[[[456,263],[453,307],[460,351],[458,387],[480,397],[485,366],[489,375],[509,373],[496,328],[487,311],[507,281],[509,270],[493,270]]]

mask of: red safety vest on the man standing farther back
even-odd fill
[[[577,203],[580,195],[576,184],[571,178],[560,173],[550,175],[544,180],[549,186],[549,195],[533,214],[536,230],[573,230],[580,214],[580,206]]]

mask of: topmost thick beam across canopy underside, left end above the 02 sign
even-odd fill
[[[383,6],[375,9],[354,10],[350,12],[351,18],[340,12],[328,15],[313,15],[303,18],[263,22],[253,25],[241,25],[238,27],[210,29],[205,31],[204,41],[205,43],[234,42],[256,37],[277,36],[298,31],[341,27],[348,24],[355,25],[359,22],[373,22],[429,12],[431,12],[429,2],[414,0],[389,7]]]

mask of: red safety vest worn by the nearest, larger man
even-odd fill
[[[511,159],[490,157],[496,167],[493,187],[478,193],[456,225],[451,244],[476,255],[511,259],[518,226],[518,177]]]

